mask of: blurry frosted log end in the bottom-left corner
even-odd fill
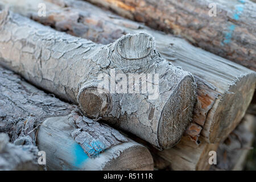
[[[9,142],[5,133],[0,133],[0,171],[42,170],[37,160],[38,148],[35,146],[16,146]]]

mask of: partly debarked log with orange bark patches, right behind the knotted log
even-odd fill
[[[129,33],[146,32],[154,36],[159,53],[177,67],[191,72],[196,79],[197,102],[193,122],[186,133],[195,142],[200,142],[200,136],[208,143],[220,142],[228,137],[245,114],[255,90],[255,72],[193,47],[183,39],[151,30],[86,2],[40,2],[47,5],[46,17],[38,16],[35,1],[28,0],[22,5],[8,1],[2,2],[2,6],[8,4],[11,10],[56,30],[101,44],[113,43]],[[30,9],[24,10],[24,7]]]

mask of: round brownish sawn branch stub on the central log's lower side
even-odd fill
[[[89,118],[108,114],[112,106],[109,94],[100,93],[95,87],[81,89],[77,101],[82,112]]]

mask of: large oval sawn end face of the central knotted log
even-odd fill
[[[191,121],[196,102],[196,85],[193,83],[191,75],[185,76],[164,106],[158,127],[161,148],[175,146]]]

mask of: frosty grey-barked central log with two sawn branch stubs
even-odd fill
[[[0,64],[78,103],[89,118],[158,148],[179,142],[192,117],[196,84],[191,73],[159,55],[152,36],[126,35],[103,46],[8,11],[0,16]]]

